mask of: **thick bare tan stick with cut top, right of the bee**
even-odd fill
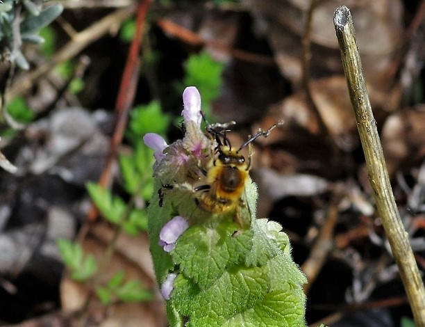
[[[356,115],[360,141],[365,153],[369,182],[374,190],[378,214],[390,243],[394,259],[409,299],[416,326],[425,326],[425,288],[415,257],[410,248],[408,233],[403,223],[392,193],[381,141],[376,129],[376,121],[367,95],[360,54],[358,53],[353,19],[349,8],[341,6],[333,17],[342,64],[347,79],[351,104]]]

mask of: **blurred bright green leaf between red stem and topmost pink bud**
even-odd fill
[[[161,111],[160,102],[158,101],[137,106],[130,113],[128,138],[134,144],[138,144],[144,134],[165,134],[170,122],[170,115]]]

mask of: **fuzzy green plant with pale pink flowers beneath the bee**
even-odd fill
[[[306,278],[281,226],[256,218],[256,185],[248,178],[242,198],[222,212],[224,202],[201,209],[214,193],[208,171],[223,159],[217,142],[228,125],[204,133],[197,88],[185,89],[183,103],[182,140],[144,136],[156,150],[148,231],[170,326],[306,326]]]

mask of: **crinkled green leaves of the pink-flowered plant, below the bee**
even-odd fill
[[[246,193],[251,208],[256,196],[251,182]],[[156,235],[175,215],[173,204],[185,202],[188,212],[202,212],[193,209],[192,197],[186,200],[177,191],[169,191],[163,207],[153,195],[148,223],[159,284],[178,266],[167,301],[170,326],[306,326],[302,288],[306,278],[294,264],[288,237],[278,223],[253,216],[251,227],[235,234],[238,225],[232,214],[228,218],[205,214],[199,219],[209,223],[194,223],[178,238],[176,248],[165,253]],[[187,322],[181,325],[181,321]]]

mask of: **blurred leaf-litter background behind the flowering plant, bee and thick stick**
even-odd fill
[[[281,223],[308,276],[308,324],[414,326],[349,101],[341,5],[423,273],[425,1],[4,0],[0,325],[167,326],[142,136],[180,138],[197,86],[209,122],[235,120],[232,144],[285,121],[254,144],[251,175],[258,217]]]

